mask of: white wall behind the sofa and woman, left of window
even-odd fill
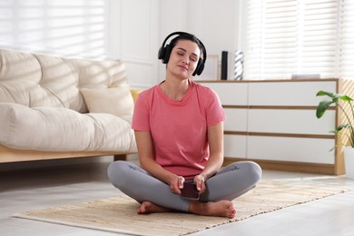
[[[74,57],[119,58],[133,87],[164,79],[157,52],[167,34],[196,34],[208,54],[238,49],[241,0],[6,0],[0,2],[0,47]],[[207,69],[206,69],[207,70]],[[217,77],[220,77],[220,70]],[[215,78],[217,79],[217,78]]]

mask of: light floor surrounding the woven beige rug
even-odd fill
[[[11,217],[16,212],[122,194],[107,181],[106,168],[112,161],[113,157],[107,156],[0,164],[0,235],[117,235]],[[131,161],[136,159],[132,157]],[[354,189],[354,180],[345,176],[264,171],[263,178],[323,182]],[[192,235],[354,235],[354,190]]]

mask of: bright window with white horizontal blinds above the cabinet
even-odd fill
[[[247,2],[245,79],[354,79],[354,1]]]

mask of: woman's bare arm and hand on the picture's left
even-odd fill
[[[142,168],[155,178],[166,182],[174,193],[181,194],[184,178],[162,168],[153,160],[152,135],[148,131],[135,131],[135,140],[138,147],[139,162]]]

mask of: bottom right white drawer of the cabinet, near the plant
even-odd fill
[[[334,164],[334,139],[249,136],[247,143],[251,159]]]

